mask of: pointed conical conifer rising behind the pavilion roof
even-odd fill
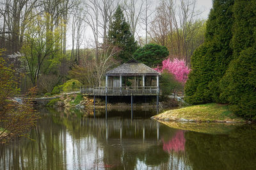
[[[135,42],[134,35],[130,31],[129,24],[125,21],[124,13],[120,6],[116,8],[113,21],[109,26],[108,40],[109,43],[121,49],[115,58],[123,63],[131,59],[132,54],[138,49],[137,42]]]

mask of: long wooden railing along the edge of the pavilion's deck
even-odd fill
[[[84,95],[159,95],[160,91],[157,86],[150,87],[122,87],[122,88],[113,88],[113,87],[85,87],[81,86],[80,91]]]

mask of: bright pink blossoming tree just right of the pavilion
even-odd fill
[[[170,60],[170,58],[164,59],[162,65],[162,67],[157,66],[155,70],[161,73],[164,72],[164,70],[166,70],[166,72],[168,73],[172,73],[175,79],[181,82],[183,85],[188,80],[188,74],[190,72],[190,69],[188,68],[188,66],[186,66],[186,63],[183,59],[175,58],[173,59],[173,61]]]

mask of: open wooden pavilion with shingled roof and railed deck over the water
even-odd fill
[[[106,72],[106,86],[81,88],[85,95],[159,95],[159,72],[131,59]]]

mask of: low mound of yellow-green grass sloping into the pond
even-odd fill
[[[245,122],[223,104],[203,104],[165,111],[152,119],[164,121]]]

